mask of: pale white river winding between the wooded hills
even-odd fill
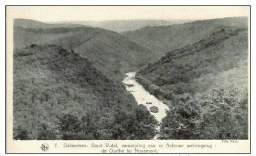
[[[129,91],[137,101],[138,105],[143,104],[147,107],[149,112],[156,118],[156,120],[161,123],[162,119],[167,115],[166,110],[168,110],[168,106],[165,105],[162,101],[157,99],[155,96],[151,95],[147,90],[143,88],[135,80],[136,72],[126,73],[126,78],[124,78],[123,83],[126,86],[126,90]],[[148,103],[148,104],[147,104]],[[151,103],[151,104],[149,104]],[[150,111],[150,107],[156,106],[159,109],[158,113],[153,113]],[[157,130],[160,129],[160,126],[157,127]],[[157,137],[157,136],[156,136]],[[155,137],[155,139],[156,139]]]

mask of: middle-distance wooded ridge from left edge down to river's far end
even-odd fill
[[[99,28],[14,28],[14,46],[56,44],[87,58],[108,78],[122,80],[124,74],[153,61],[156,54],[129,38]]]

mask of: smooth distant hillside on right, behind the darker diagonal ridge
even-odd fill
[[[246,28],[247,20],[245,17],[199,20],[170,26],[145,27],[123,34],[158,53],[157,57],[159,57],[171,50],[193,44],[227,27]]]

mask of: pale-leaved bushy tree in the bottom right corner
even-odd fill
[[[209,139],[248,138],[248,105],[239,101],[234,89],[215,89],[212,99],[205,101],[202,114],[202,137]]]

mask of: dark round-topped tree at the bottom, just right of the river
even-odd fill
[[[160,128],[160,139],[195,139],[199,137],[201,107],[191,96],[183,95],[173,103]]]

